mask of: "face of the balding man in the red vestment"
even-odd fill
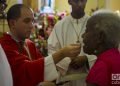
[[[28,8],[21,9],[21,16],[14,23],[15,35],[20,40],[29,38],[34,26],[34,14]]]

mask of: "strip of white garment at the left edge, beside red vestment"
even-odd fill
[[[13,86],[11,69],[0,45],[0,86]]]

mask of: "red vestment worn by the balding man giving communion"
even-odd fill
[[[44,58],[30,40],[27,45],[32,60],[25,50],[19,52],[18,43],[9,34],[4,34],[0,43],[11,66],[14,86],[36,86],[44,80]]]

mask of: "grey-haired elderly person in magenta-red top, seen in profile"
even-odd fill
[[[120,18],[112,12],[99,11],[86,27],[84,52],[97,56],[87,76],[87,86],[120,86]]]

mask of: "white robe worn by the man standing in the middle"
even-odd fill
[[[77,20],[72,18],[72,16],[70,15],[65,17],[63,20],[59,21],[55,25],[48,39],[48,54],[52,54],[57,50],[59,50],[60,48],[63,48],[64,46],[67,46],[69,44],[76,44],[76,41],[78,40],[77,39],[78,36],[79,36],[79,41],[81,42],[81,44],[83,44],[81,36],[85,32],[88,18],[89,16],[85,15],[81,19]],[[85,53],[83,52],[83,49],[81,49],[80,56],[83,55],[85,55]],[[96,59],[95,56],[92,57],[90,56],[89,58],[89,56],[87,55],[87,57],[88,57],[88,61],[91,63],[93,63]],[[70,62],[71,62],[70,58],[66,57],[57,64],[57,66],[61,68],[59,69],[59,71],[60,73],[62,73],[62,75],[65,75],[66,72],[68,71],[68,66]],[[80,71],[77,71],[77,73],[80,74]],[[71,84],[72,85],[69,86],[85,86],[84,85],[85,78],[83,80],[72,81]]]

